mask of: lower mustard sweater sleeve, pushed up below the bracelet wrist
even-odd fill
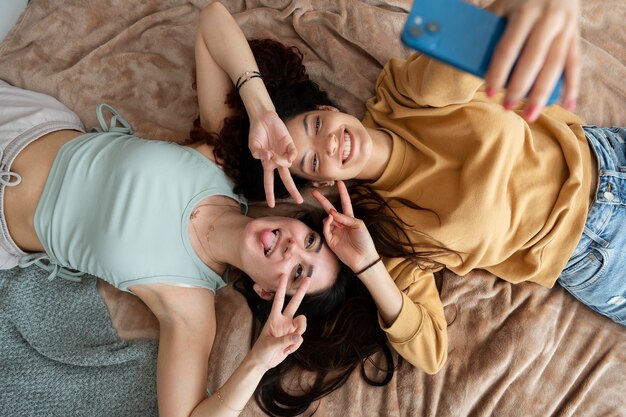
[[[448,357],[448,333],[443,305],[432,270],[422,270],[403,258],[385,266],[402,291],[402,310],[390,326],[379,317],[391,346],[413,366],[434,374]]]

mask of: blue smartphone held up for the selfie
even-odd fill
[[[506,19],[461,0],[415,0],[402,30],[409,47],[484,78]],[[559,99],[563,77],[548,104]]]

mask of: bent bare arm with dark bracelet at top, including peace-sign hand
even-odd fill
[[[224,104],[233,85],[250,119],[249,148],[261,160],[267,203],[274,206],[274,170],[297,203],[303,201],[289,167],[297,155],[287,127],[276,114],[248,41],[231,14],[219,2],[208,5],[200,16],[196,34],[196,83],[202,127],[219,132],[230,111]],[[248,78],[247,75],[254,75]]]

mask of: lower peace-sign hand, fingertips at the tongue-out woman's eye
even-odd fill
[[[306,318],[303,315],[294,317],[294,314],[304,298],[309,282],[308,277],[302,279],[285,311],[282,311],[287,290],[287,275],[281,276],[274,295],[272,311],[250,352],[252,357],[266,369],[271,369],[281,363],[302,344]]]

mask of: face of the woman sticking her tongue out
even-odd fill
[[[292,295],[305,276],[311,277],[307,294],[330,288],[339,272],[339,260],[323,237],[299,220],[262,217],[246,226],[243,270],[268,292],[278,288],[282,274],[289,277]]]

